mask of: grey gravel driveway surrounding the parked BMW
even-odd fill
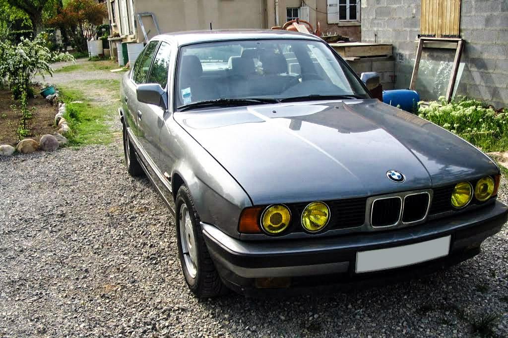
[[[489,315],[486,336],[508,335],[506,227],[481,255],[419,280],[198,300],[173,217],[122,161],[120,142],[0,158],[0,336],[466,337]]]

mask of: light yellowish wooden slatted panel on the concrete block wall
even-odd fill
[[[422,0],[422,36],[460,36],[460,0]]]

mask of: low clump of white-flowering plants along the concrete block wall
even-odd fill
[[[447,103],[432,102],[420,107],[420,117],[429,120],[485,151],[501,150],[508,145],[508,109],[495,111],[485,103],[459,96],[458,100]]]

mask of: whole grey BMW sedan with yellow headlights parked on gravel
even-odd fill
[[[497,165],[378,86],[303,33],[145,46],[121,81],[125,164],[174,212],[192,292],[393,282],[473,257],[501,229]]]

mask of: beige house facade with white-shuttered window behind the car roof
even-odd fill
[[[106,0],[111,33],[123,42],[146,42],[160,32],[270,28],[300,18],[325,33],[361,40],[361,6],[355,0]],[[152,13],[152,15],[141,15]],[[143,25],[140,24],[140,20]]]

